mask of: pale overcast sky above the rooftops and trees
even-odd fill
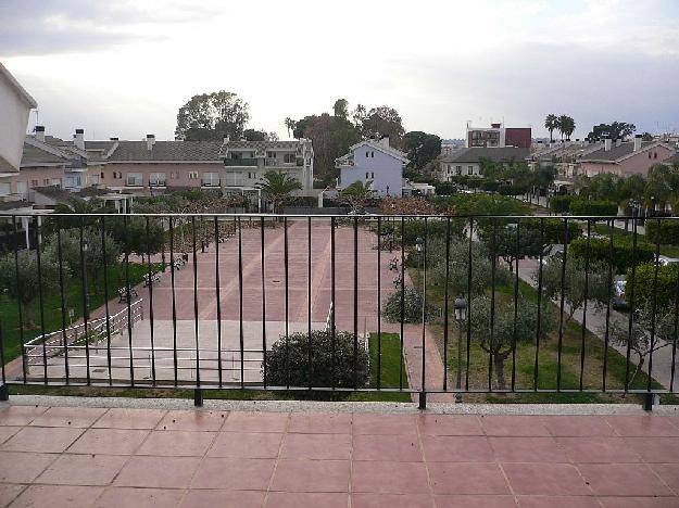
[[[219,89],[281,139],[337,98],[442,138],[502,119],[542,136],[548,113],[574,137],[679,130],[677,0],[0,0],[0,61],[60,137],[173,139],[178,107]]]

